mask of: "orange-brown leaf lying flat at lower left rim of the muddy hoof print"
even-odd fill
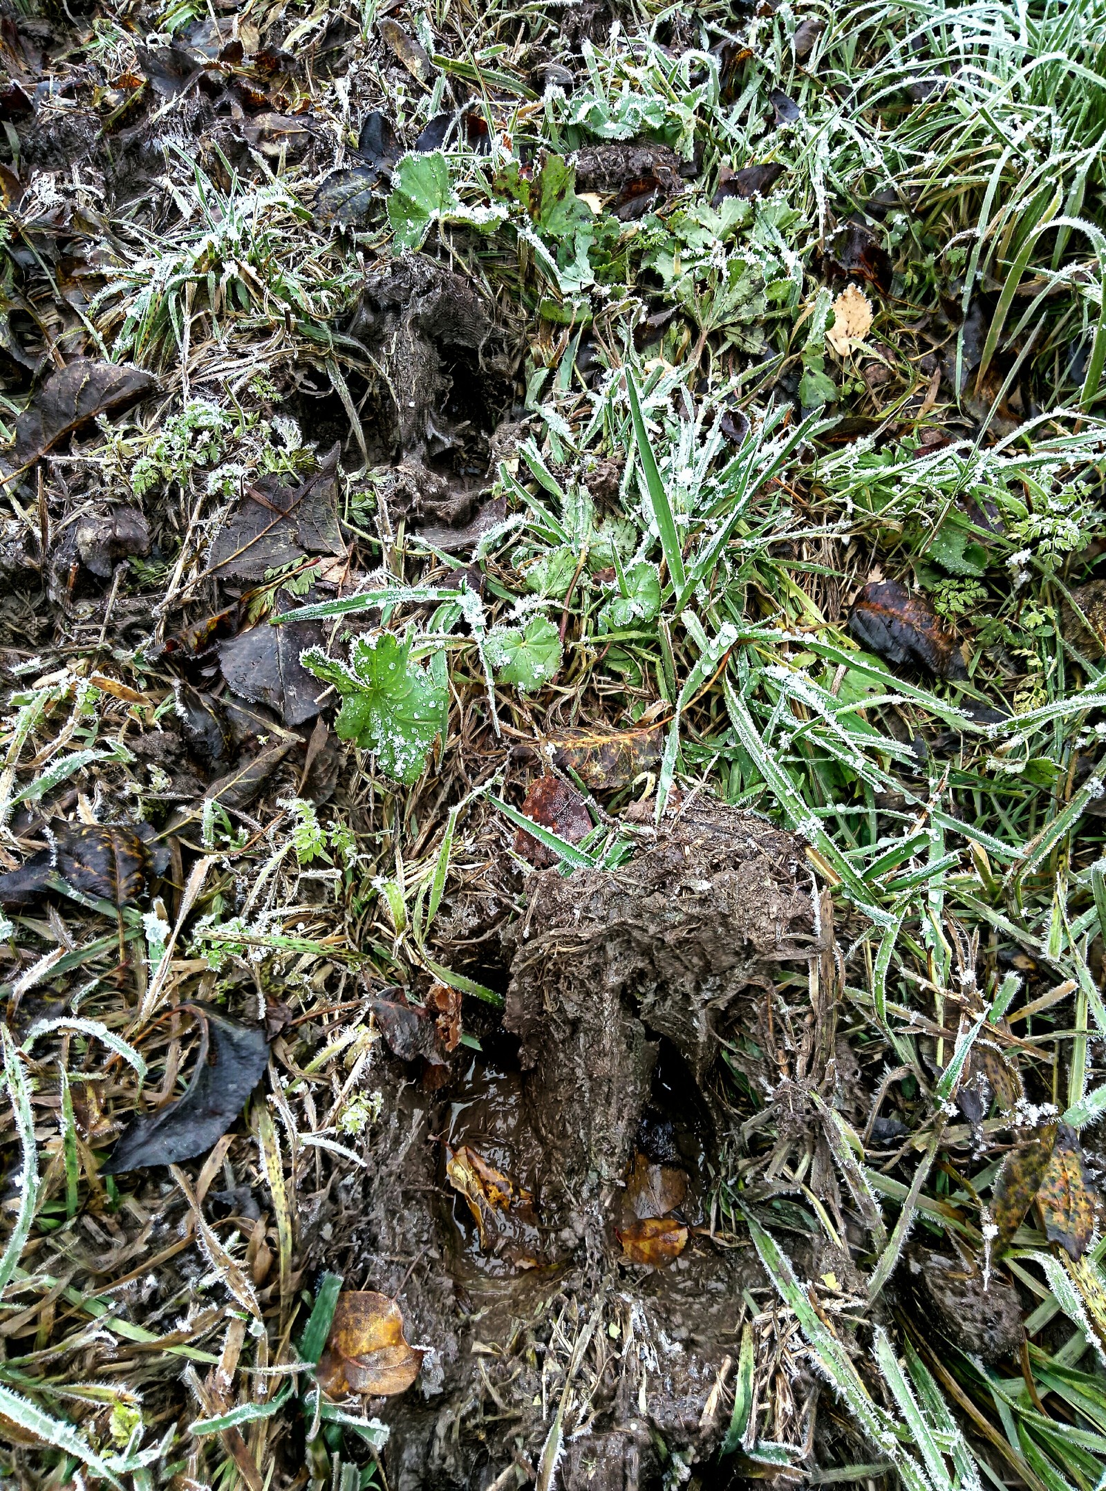
[[[317,1367],[319,1387],[331,1397],[392,1397],[414,1382],[423,1355],[408,1345],[395,1300],[374,1290],[343,1290]]]

